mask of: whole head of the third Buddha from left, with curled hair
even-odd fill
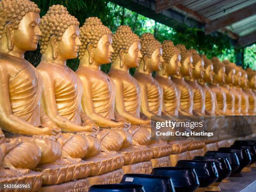
[[[80,28],[82,46],[79,49],[80,61],[89,64],[108,64],[114,52],[112,47],[112,32],[104,26],[97,17],[87,18]]]

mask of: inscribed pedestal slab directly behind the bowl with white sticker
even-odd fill
[[[151,174],[152,172],[152,164],[151,161],[144,161],[136,164],[125,165],[122,167],[123,174]]]

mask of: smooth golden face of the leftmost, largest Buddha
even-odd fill
[[[13,49],[17,52],[36,50],[41,36],[38,27],[40,15],[35,12],[28,12],[18,25],[18,29],[13,31]]]

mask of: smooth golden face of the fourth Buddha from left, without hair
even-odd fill
[[[140,49],[141,49],[140,41],[135,41],[129,47],[128,53],[124,54],[124,63],[128,68],[138,67],[138,64],[142,58]]]

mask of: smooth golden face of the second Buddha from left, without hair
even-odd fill
[[[63,60],[77,58],[81,45],[79,33],[79,26],[69,26],[61,37],[61,41],[57,41],[58,54]]]

